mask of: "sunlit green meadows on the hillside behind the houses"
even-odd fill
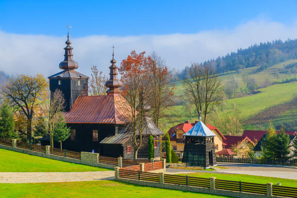
[[[222,85],[224,85],[227,81],[230,81],[232,78],[235,77],[239,84],[239,87],[237,89],[237,93],[239,94],[241,92],[240,88],[245,88],[245,83],[242,79],[243,75],[248,74],[250,77],[254,78],[256,82],[258,82],[259,84],[266,80],[270,82],[283,82],[286,79],[291,79],[295,77],[295,74],[291,74],[290,72],[288,72],[287,69],[284,68],[286,65],[292,63],[297,63],[297,60],[295,59],[282,62],[280,64],[271,66],[263,71],[259,71],[259,67],[250,67],[242,69],[238,72],[234,71],[229,72],[228,74],[221,74],[219,78],[222,82]],[[276,71],[280,74],[278,78],[276,78],[276,76],[273,75],[273,73],[275,73]],[[218,114],[220,115],[220,117],[225,117],[227,115],[232,116],[232,103],[235,103],[236,107],[238,107],[242,112],[242,119],[247,119],[248,117],[255,115],[271,106],[275,106],[292,100],[297,95],[297,82],[274,84],[265,88],[258,89],[258,91],[261,91],[262,93],[247,95],[241,98],[228,99],[227,104],[226,101],[224,101],[223,111],[221,111],[221,105],[218,105]],[[193,116],[193,112],[191,112],[192,115],[190,116],[189,106],[185,105],[185,102],[182,99],[182,97],[186,97],[186,93],[184,93],[183,91],[181,81],[176,82],[175,95],[178,98],[178,100],[176,101],[177,105],[173,106],[172,109],[168,111],[168,117],[170,120],[166,121],[163,127],[164,131],[168,131],[170,127],[180,122],[187,120],[197,120],[197,113]],[[192,108],[192,111],[194,111],[195,108]],[[292,120],[294,120],[294,117],[297,116],[295,114],[292,114],[292,111],[285,112],[282,115],[275,117],[272,121],[276,125],[289,123]],[[266,125],[263,124],[261,126],[245,125],[243,127],[247,129],[255,129],[257,127],[265,128],[265,126]]]

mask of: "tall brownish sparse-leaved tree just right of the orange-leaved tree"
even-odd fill
[[[149,62],[149,84],[151,90],[151,117],[158,127],[160,120],[167,117],[164,111],[173,104],[174,84],[169,84],[169,72],[165,61],[153,52]]]

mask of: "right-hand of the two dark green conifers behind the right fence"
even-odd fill
[[[290,146],[289,135],[284,132],[284,129],[281,129],[281,133],[277,134],[273,141],[273,147],[275,150],[275,158],[281,160],[289,159]]]

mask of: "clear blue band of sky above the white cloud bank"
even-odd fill
[[[234,28],[255,17],[290,25],[297,1],[285,0],[0,0],[0,30],[7,33],[142,35]],[[3,20],[4,19],[4,20]]]

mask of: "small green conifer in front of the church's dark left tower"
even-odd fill
[[[62,115],[62,113],[59,113],[57,122],[54,127],[53,139],[61,143],[61,149],[62,149],[62,142],[65,141],[69,136],[70,136],[70,128],[67,127],[65,118]]]

